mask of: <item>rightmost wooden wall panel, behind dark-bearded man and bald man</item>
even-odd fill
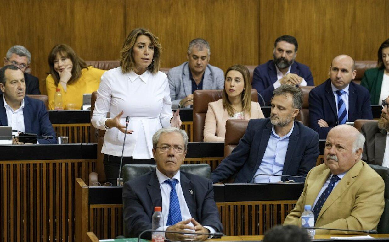
[[[332,59],[348,54],[376,60],[379,45],[389,38],[388,0],[259,0],[260,62],[272,59],[274,40],[293,35],[296,61],[308,65],[315,85],[328,78]]]

